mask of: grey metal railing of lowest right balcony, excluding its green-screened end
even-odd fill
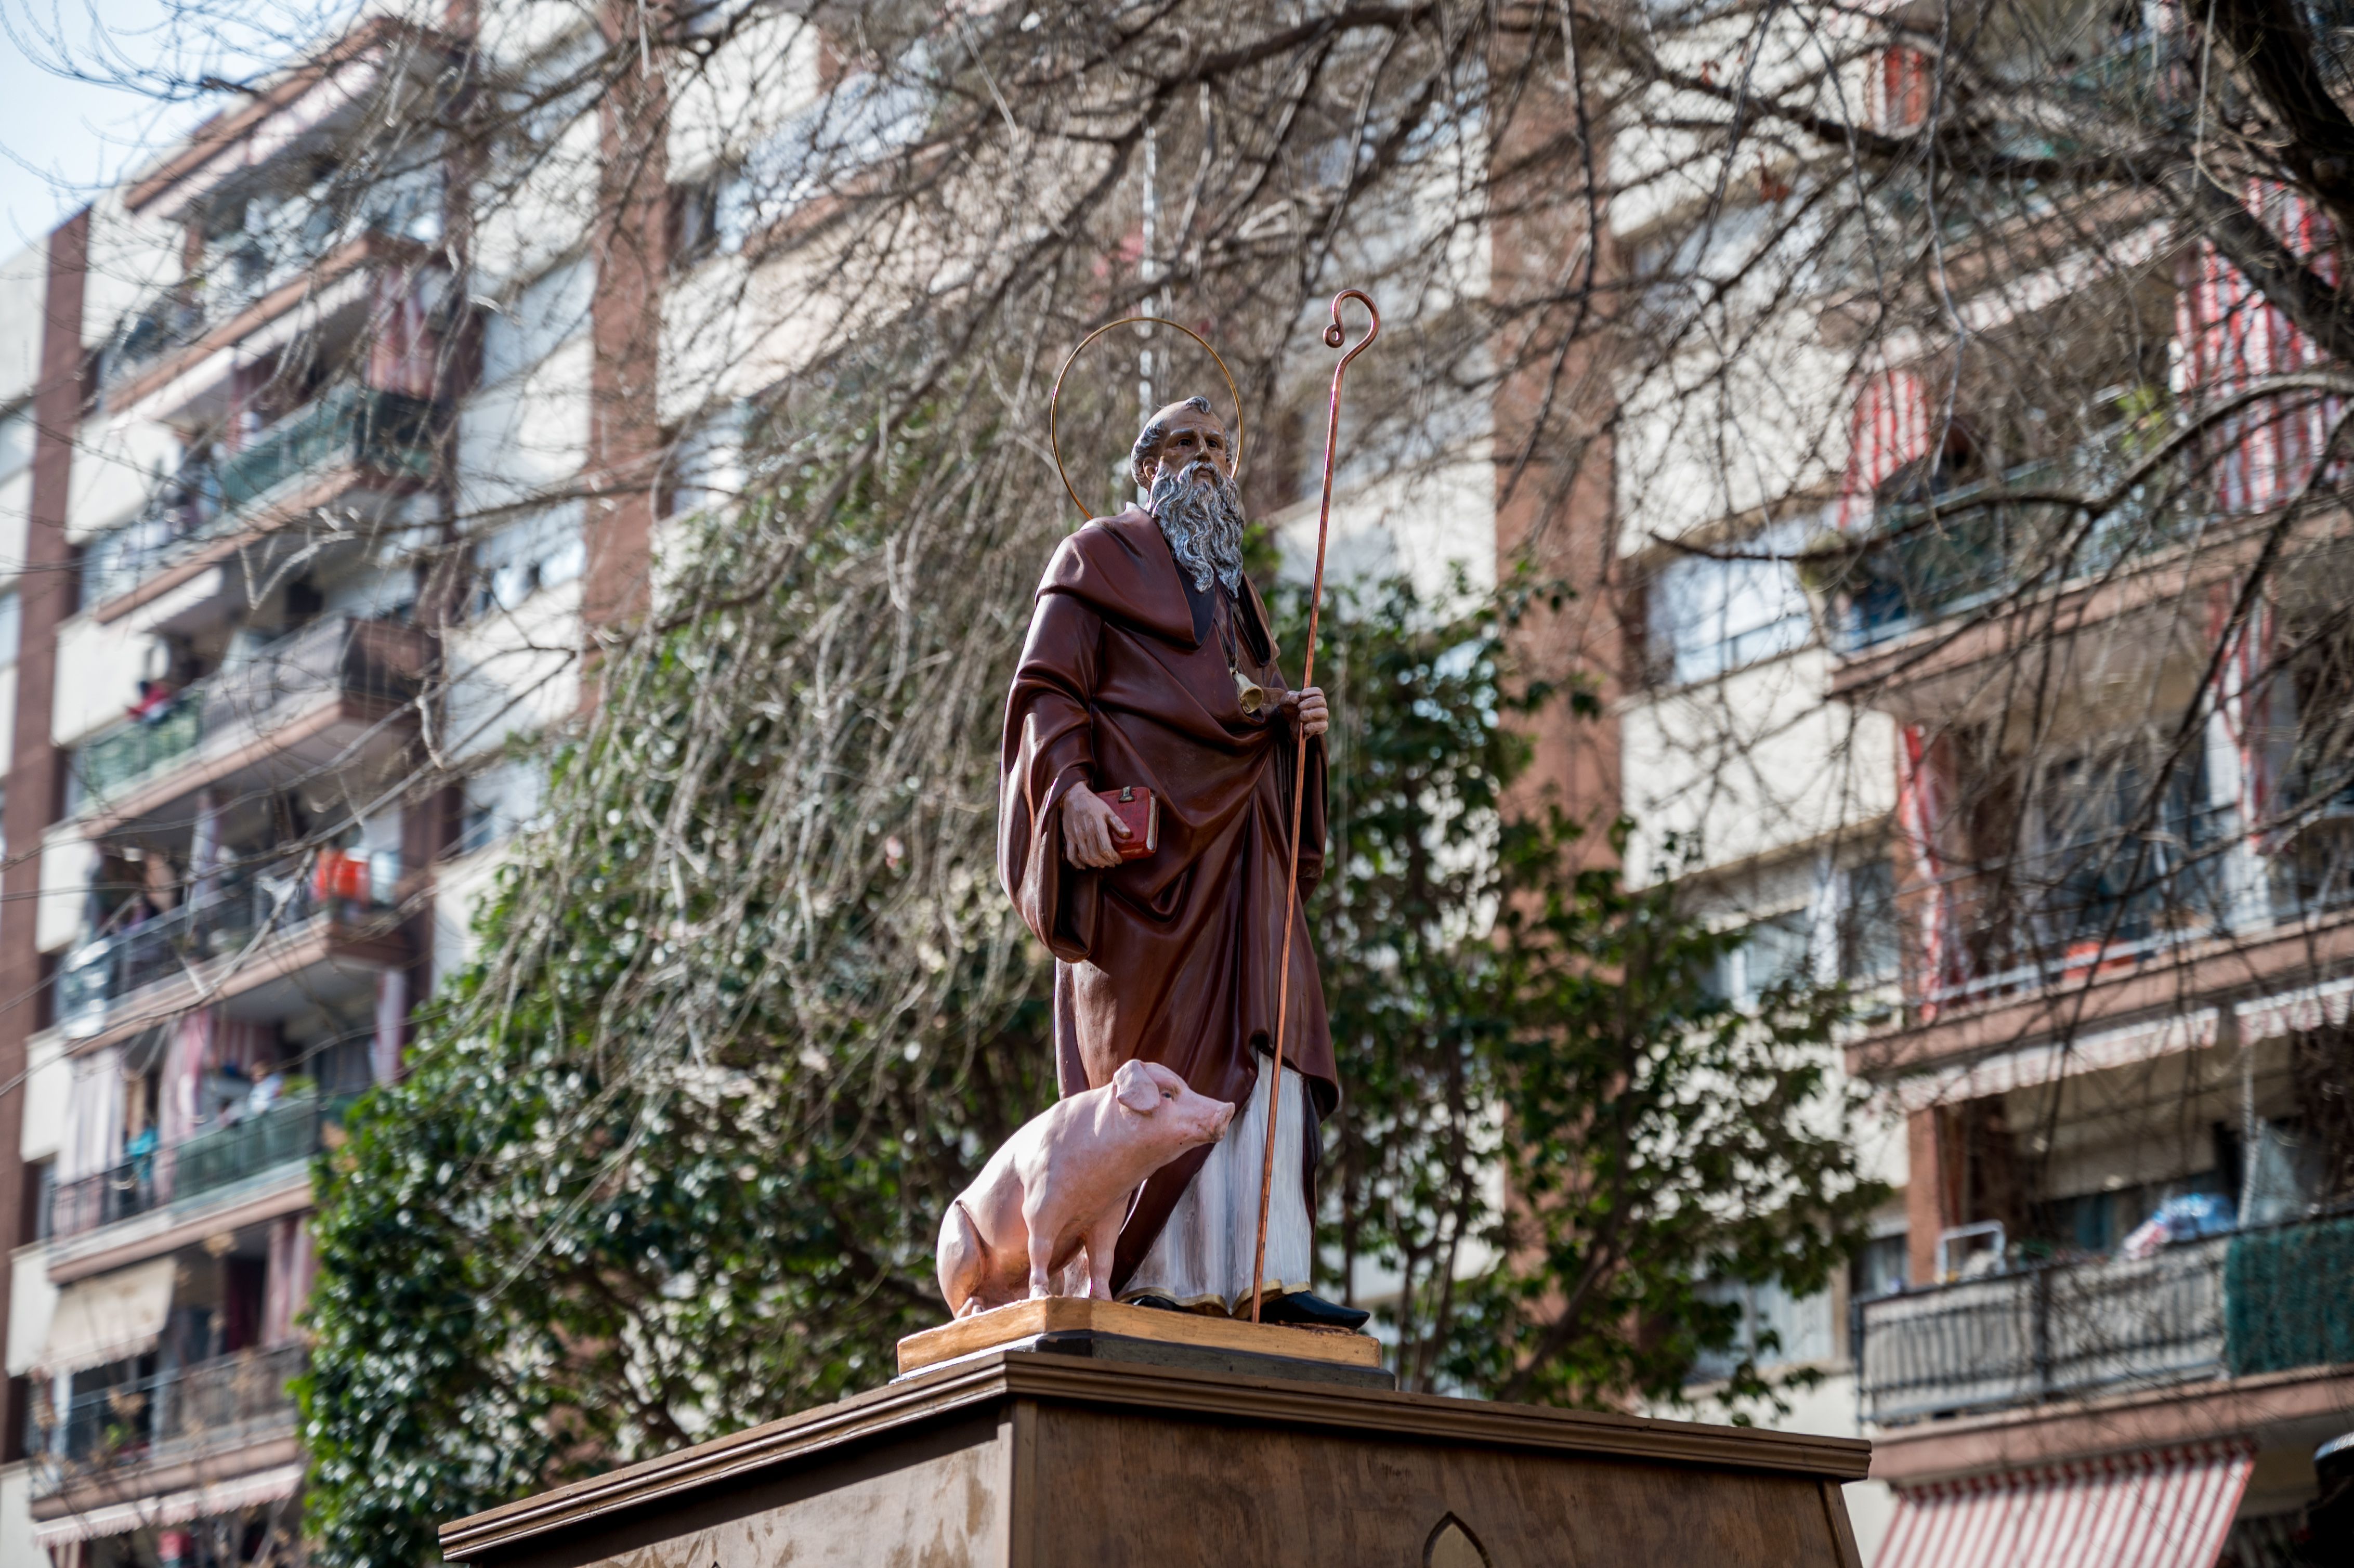
[[[1860,1302],[1864,1420],[1909,1422],[2217,1377],[2229,1335],[2283,1307],[2229,1300],[2234,1245],[2326,1236],[2345,1220],[2185,1241],[2152,1257],[2055,1262]],[[2246,1293],[2243,1293],[2246,1295]],[[2236,1323],[2236,1330],[2234,1330]]]

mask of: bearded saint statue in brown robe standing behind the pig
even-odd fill
[[[1368,1314],[1309,1293],[1316,1128],[1339,1104],[1302,913],[1323,876],[1325,697],[1283,678],[1274,622],[1243,574],[1233,443],[1210,403],[1186,398],[1146,419],[1130,471],[1149,506],[1090,520],[1038,584],[1005,699],[998,869],[1055,954],[1062,1092],[1111,1083],[1123,1062],[1158,1062],[1236,1107],[1219,1142],[1139,1189],[1113,1295],[1250,1311],[1266,1123],[1281,1095],[1262,1318],[1358,1328]],[[1276,1083],[1302,735],[1292,1017]],[[1158,800],[1151,852],[1137,855],[1097,798],[1121,789]]]

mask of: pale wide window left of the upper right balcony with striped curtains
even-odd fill
[[[1789,560],[1803,525],[1773,527],[1737,546],[1737,560],[1685,556],[1650,582],[1653,662],[1676,685],[1803,647],[1815,631]]]

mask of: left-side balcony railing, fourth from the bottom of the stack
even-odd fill
[[[158,711],[92,737],[75,753],[80,786],[97,800],[120,798],[207,737],[259,727],[280,704],[327,692],[405,702],[424,676],[424,636],[398,622],[332,617],[290,631]]]

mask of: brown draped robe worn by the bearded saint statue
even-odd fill
[[[1276,697],[1266,605],[1243,582],[1238,669],[1269,690],[1243,713],[1212,624],[1161,525],[1130,506],[1062,542],[1038,584],[1022,666],[1005,699],[998,871],[1022,921],[1055,954],[1055,1069],[1064,1095],[1121,1062],[1161,1062],[1236,1107],[1274,1050],[1283,963],[1283,873],[1299,735]],[[1339,1104],[1323,986],[1304,904],[1323,873],[1325,746],[1309,742],[1292,913],[1292,1026],[1283,1062],[1309,1081],[1318,1121]],[[1073,789],[1137,784],[1161,798],[1161,848],[1106,871],[1062,852],[1055,808]],[[1316,1128],[1304,1128],[1309,1208]],[[1210,1149],[1161,1168],[1121,1229],[1111,1285],[1151,1250]]]

